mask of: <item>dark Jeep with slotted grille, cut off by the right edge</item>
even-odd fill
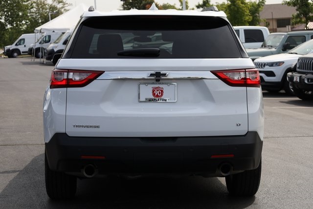
[[[294,94],[302,100],[313,100],[313,54],[299,57],[295,69],[287,74]]]

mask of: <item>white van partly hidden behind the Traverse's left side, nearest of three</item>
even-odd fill
[[[45,48],[45,59],[51,61],[54,54],[61,54],[64,51],[67,41],[72,34],[74,28],[68,29],[65,34],[60,36],[55,42]],[[53,63],[56,64],[56,63]]]

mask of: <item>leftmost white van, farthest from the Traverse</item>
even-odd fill
[[[11,46],[5,46],[4,55],[15,58],[27,54],[28,47],[34,43],[35,36],[35,33],[23,34]]]

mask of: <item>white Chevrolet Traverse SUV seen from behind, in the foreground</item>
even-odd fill
[[[257,192],[258,70],[216,7],[152,8],[89,8],[75,28],[45,92],[50,198],[72,197],[77,177],[116,174],[225,177],[232,195]],[[132,38],[144,44],[124,49]]]

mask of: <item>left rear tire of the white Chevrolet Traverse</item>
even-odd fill
[[[76,182],[77,178],[75,176],[51,170],[45,155],[45,189],[51,199],[69,199],[74,197]]]

